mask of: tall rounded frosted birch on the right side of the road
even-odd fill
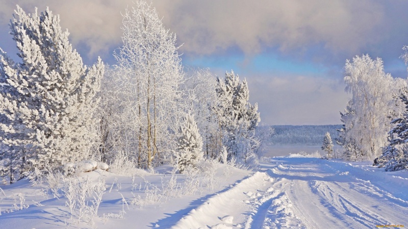
[[[355,158],[350,155],[350,159],[372,160],[387,145],[389,117],[395,105],[394,80],[384,72],[382,60],[372,60],[369,55],[347,60],[345,71],[346,91],[352,98],[348,104],[350,112],[342,117],[346,134],[343,147],[358,149],[359,152],[352,152]]]

